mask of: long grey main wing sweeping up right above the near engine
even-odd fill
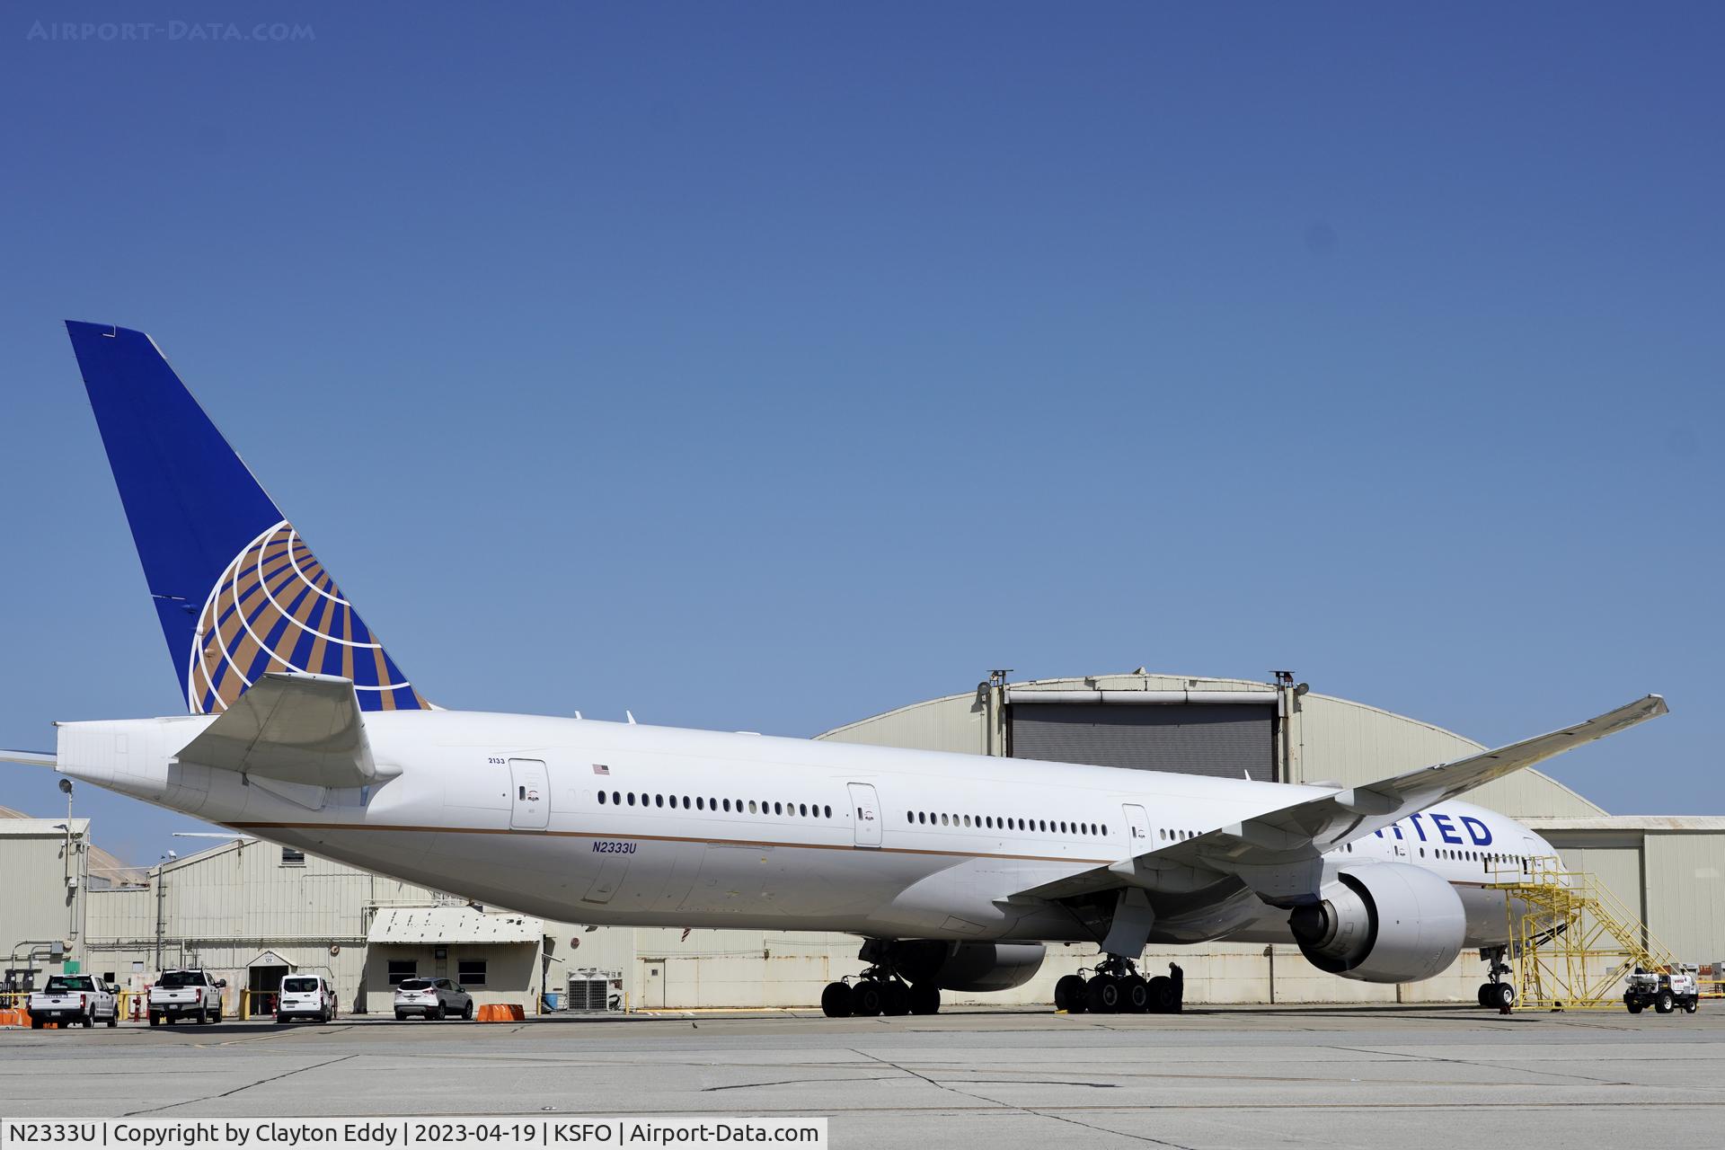
[[[1342,847],[1427,807],[1465,795],[1492,779],[1532,767],[1552,755],[1615,734],[1637,722],[1666,712],[1665,698],[1647,695],[1634,703],[1608,710],[1551,734],[1487,750],[1435,767],[1397,774],[1370,786],[1308,798],[1252,816],[1232,826],[1170,843],[1133,859],[1082,871],[1064,879],[1044,883],[1014,895],[1028,898],[1070,898],[1123,886],[1195,888],[1218,876],[1263,878],[1268,872],[1299,872],[1302,864],[1316,864],[1327,850]],[[1208,878],[1206,878],[1208,876]],[[1290,876],[1289,895],[1297,893],[1299,876]],[[1254,888],[1264,893],[1259,883]]]

